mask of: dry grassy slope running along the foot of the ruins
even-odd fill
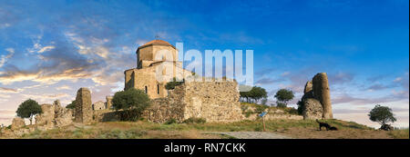
[[[268,132],[285,134],[295,138],[406,138],[408,129],[394,132],[374,131],[365,125],[340,120],[327,120],[339,131],[319,131],[314,121],[272,120],[266,122]],[[198,139],[227,138],[201,132],[239,132],[261,131],[261,121],[243,121],[238,123],[172,123],[159,124],[149,122],[112,122],[96,123],[90,126],[69,126],[46,132],[31,132],[22,138],[98,138],[98,139]]]

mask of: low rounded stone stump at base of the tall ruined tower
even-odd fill
[[[308,98],[303,100],[304,110],[303,119],[304,120],[314,120],[322,119],[323,116],[323,106],[318,100],[313,98]]]

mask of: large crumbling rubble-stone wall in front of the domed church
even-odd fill
[[[166,98],[152,101],[143,116],[151,122],[164,123],[169,119],[179,122],[190,117],[207,122],[235,122],[241,114],[240,93],[236,82],[187,82],[169,90]]]

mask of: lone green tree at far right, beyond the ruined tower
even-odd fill
[[[379,123],[382,126],[386,123],[395,123],[396,121],[392,109],[387,106],[381,106],[380,104],[376,104],[372,111],[367,115],[371,121]]]

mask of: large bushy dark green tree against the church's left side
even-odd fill
[[[140,114],[149,107],[150,99],[147,93],[142,90],[130,88],[127,91],[121,91],[114,94],[112,99],[113,107],[123,110],[121,119],[125,121],[136,121]]]

